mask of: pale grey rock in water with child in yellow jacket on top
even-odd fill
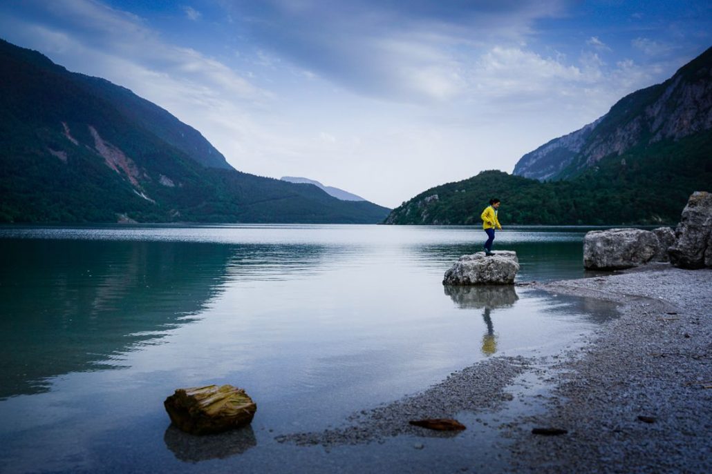
[[[463,255],[445,272],[444,285],[511,285],[519,271],[517,253],[497,251]]]

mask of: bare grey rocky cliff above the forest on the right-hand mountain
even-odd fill
[[[619,100],[596,122],[525,154],[514,174],[561,179],[636,146],[677,141],[712,129],[712,48],[662,84]]]

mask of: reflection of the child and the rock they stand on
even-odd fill
[[[494,332],[491,312],[495,308],[510,308],[519,297],[513,285],[502,286],[444,286],[445,294],[452,298],[459,308],[482,309],[482,318],[487,332],[482,335],[482,353],[493,355],[497,352],[497,335]]]

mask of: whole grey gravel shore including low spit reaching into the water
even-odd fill
[[[492,357],[420,394],[361,411],[342,428],[278,441],[328,447],[444,437],[408,421],[474,413],[483,425],[498,421],[497,472],[712,472],[712,270],[653,264],[535,286],[617,302],[621,316],[575,350]],[[567,433],[538,436],[533,428]]]

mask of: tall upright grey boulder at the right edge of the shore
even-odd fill
[[[712,266],[712,193],[692,193],[668,253],[670,262],[680,268]]]

